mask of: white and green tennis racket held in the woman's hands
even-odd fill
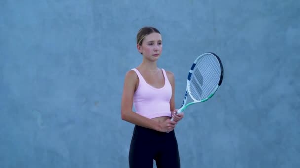
[[[212,52],[198,56],[189,70],[184,100],[177,113],[182,113],[190,105],[210,99],[220,87],[222,79],[223,65],[219,56]],[[188,94],[193,101],[186,104]]]

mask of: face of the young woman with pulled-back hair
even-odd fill
[[[156,32],[148,34],[143,39],[142,45],[138,45],[138,50],[140,53],[143,53],[143,56],[148,60],[157,60],[162,52],[161,35]]]

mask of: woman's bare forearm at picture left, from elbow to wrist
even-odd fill
[[[141,116],[135,112],[126,112],[122,114],[122,119],[141,127],[150,128],[156,131],[161,130],[161,126],[157,121]]]

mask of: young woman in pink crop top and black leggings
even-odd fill
[[[173,73],[157,67],[162,52],[160,32],[153,27],[141,28],[137,49],[143,61],[126,73],[121,103],[122,119],[135,124],[129,166],[153,168],[155,160],[158,168],[180,168],[174,128],[183,113],[176,114]]]

